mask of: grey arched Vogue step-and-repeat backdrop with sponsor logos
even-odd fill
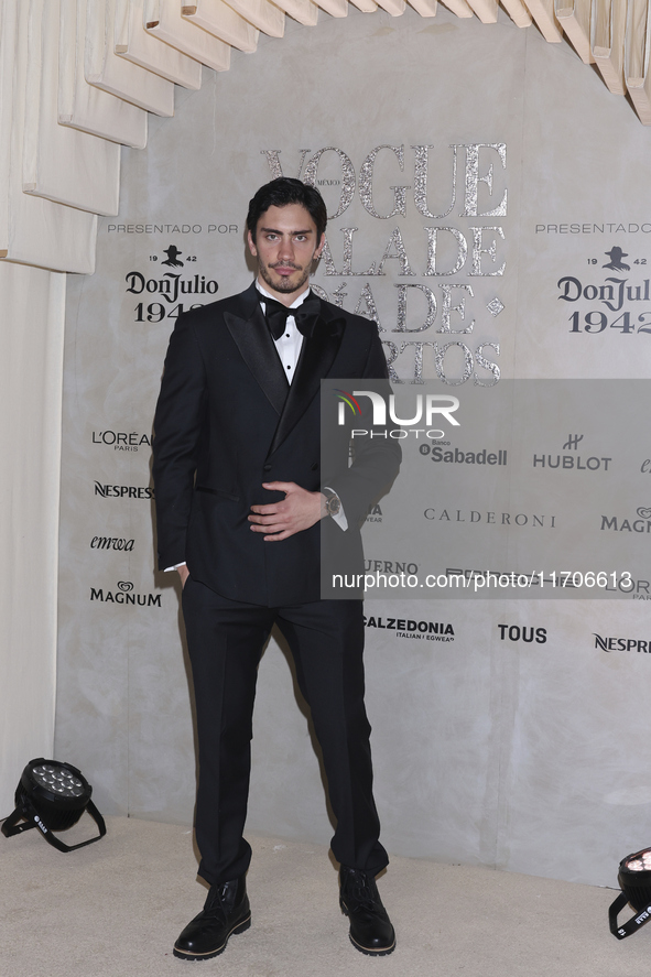
[[[247,204],[282,173],[326,199],[314,282],[377,322],[402,432],[365,528],[387,847],[610,884],[651,844],[650,152],[567,45],[443,9],[296,25],[124,151],[66,339],[56,753],[100,810],[192,822],[152,416],[176,317],[250,283]],[[249,824],[332,834],[274,639]]]

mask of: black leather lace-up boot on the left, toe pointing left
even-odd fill
[[[245,877],[211,886],[203,911],[187,924],[176,943],[174,956],[184,960],[207,960],[226,949],[232,933],[251,925],[251,908]]]

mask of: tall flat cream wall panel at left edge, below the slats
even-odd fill
[[[0,262],[3,814],[25,758],[54,756],[65,286],[63,273]]]

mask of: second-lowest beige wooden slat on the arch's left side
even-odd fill
[[[120,202],[120,146],[58,124],[59,0],[30,0],[29,7],[23,191],[115,215]]]

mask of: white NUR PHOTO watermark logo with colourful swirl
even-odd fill
[[[335,389],[334,395],[338,401],[337,404],[337,424],[343,427],[348,423],[347,415],[352,414],[352,422],[368,424],[362,415],[368,415],[370,401],[370,427],[354,427],[350,432],[351,437],[392,437],[402,439],[413,435],[419,438],[421,435],[428,438],[445,437],[445,432],[441,428],[433,428],[431,425],[434,421],[444,419],[454,427],[459,426],[453,413],[458,410],[459,400],[456,397],[449,397],[444,393],[419,393],[410,408],[409,417],[399,417],[398,408],[395,405],[395,394],[391,393],[388,398],[383,397],[375,390],[340,390]],[[348,409],[348,410],[347,410]],[[405,408],[401,408],[401,411]],[[397,424],[397,427],[388,425]],[[424,426],[417,427],[417,424]],[[373,428],[380,428],[375,431]]]

